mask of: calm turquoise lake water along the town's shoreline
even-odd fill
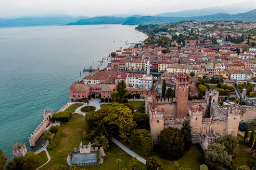
[[[43,120],[69,101],[80,70],[98,64],[119,47],[147,36],[131,25],[40,26],[0,29],[0,148],[8,161],[12,146],[25,143]],[[115,42],[113,42],[115,41]]]

